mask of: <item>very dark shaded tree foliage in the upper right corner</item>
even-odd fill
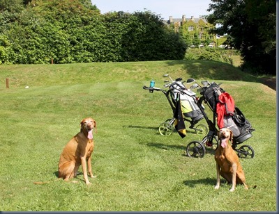
[[[232,37],[227,42],[241,51],[243,69],[276,74],[276,1],[212,2],[209,11],[213,13],[208,21],[219,24],[215,33]]]

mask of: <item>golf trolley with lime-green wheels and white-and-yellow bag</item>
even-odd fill
[[[164,77],[169,76],[168,74],[165,74]],[[190,89],[187,89],[183,83],[185,81],[182,81],[182,78],[178,78],[173,80],[170,76],[168,80],[165,81],[165,85],[163,85],[164,88],[168,88],[167,90],[163,90],[161,88],[155,88],[153,87],[154,83],[151,81],[150,87],[143,86],[144,90],[149,90],[149,92],[153,93],[153,91],[160,91],[165,94],[165,97],[167,97],[167,101],[169,101],[169,105],[172,108],[172,112],[174,114],[176,110],[176,99],[177,96],[180,96],[181,99],[181,106],[183,110],[183,120],[186,122],[190,122],[190,129],[193,129],[195,133],[205,135],[208,132],[207,127],[204,124],[197,124],[200,120],[204,118],[204,115],[202,114],[200,108],[197,106],[197,97],[195,97],[195,92],[193,92]],[[201,107],[203,108],[203,106]],[[174,131],[174,122],[175,118],[172,117],[170,119],[165,120],[162,124],[159,126],[159,133],[160,135],[171,135]]]

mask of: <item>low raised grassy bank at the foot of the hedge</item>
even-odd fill
[[[137,63],[84,63],[67,65],[2,65],[1,87],[10,78],[14,87],[68,85],[76,83],[163,80],[163,74],[183,79],[216,79],[258,82],[238,68],[205,60],[170,60]],[[1,82],[0,82],[1,83]],[[160,82],[159,82],[160,83]]]

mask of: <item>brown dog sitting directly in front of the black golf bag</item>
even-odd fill
[[[216,170],[217,170],[217,183],[215,188],[220,187],[220,175],[227,180],[228,183],[232,183],[232,188],[229,191],[234,191],[236,183],[244,185],[244,188],[248,190],[246,185],[246,179],[239,162],[239,157],[229,144],[229,140],[232,142],[232,131],[223,128],[218,131],[219,145],[215,152]]]

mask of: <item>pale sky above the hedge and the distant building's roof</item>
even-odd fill
[[[206,10],[211,0],[91,0],[91,2],[102,14],[112,11],[134,13],[150,10],[168,20],[169,16],[181,18],[182,15],[186,15],[186,18],[191,16],[198,18],[200,15],[209,15]]]

